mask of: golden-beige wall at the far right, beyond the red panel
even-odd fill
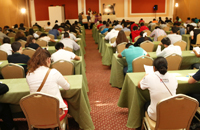
[[[182,21],[186,21],[187,17],[200,19],[200,0],[175,0],[175,3],[178,3],[179,7],[174,7],[174,18],[179,16]]]

